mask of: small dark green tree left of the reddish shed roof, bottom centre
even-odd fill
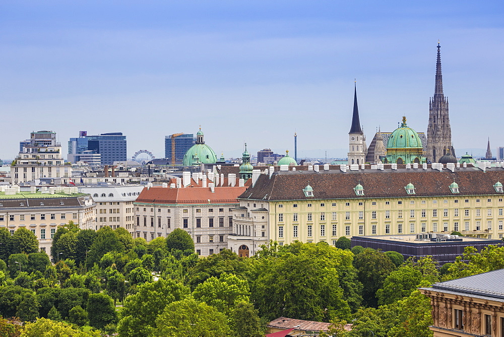
[[[230,327],[237,337],[262,337],[264,328],[259,310],[248,302],[238,302],[229,315]]]

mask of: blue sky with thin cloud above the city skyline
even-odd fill
[[[195,133],[225,157],[346,157],[360,122],[426,132],[439,39],[455,149],[504,146],[502,1],[0,2],[0,158],[31,131],[123,132],[164,157]],[[461,155],[462,153],[457,153]]]

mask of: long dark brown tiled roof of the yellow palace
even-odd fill
[[[459,185],[460,193],[452,193],[449,186],[453,182]],[[474,167],[450,170],[422,170],[422,168],[400,168],[399,170],[329,170],[299,172],[280,171],[270,178],[261,175],[255,186],[248,188],[240,199],[254,200],[304,200],[304,199],[339,199],[339,198],[383,198],[407,197],[405,186],[412,183],[416,196],[454,195],[502,195],[493,185],[504,182],[504,168],[491,168],[486,172]],[[357,184],[364,187],[364,195],[356,195]],[[303,188],[313,188],[313,197],[306,197]]]

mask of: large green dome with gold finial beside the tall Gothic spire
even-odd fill
[[[415,130],[408,128],[406,117],[403,123],[390,135],[387,144],[387,162],[397,164],[426,162],[422,140]]]

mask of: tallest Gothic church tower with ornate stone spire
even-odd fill
[[[452,147],[452,129],[448,115],[448,98],[443,93],[441,72],[441,46],[437,42],[436,83],[434,97],[429,102],[429,124],[427,126],[427,159],[438,162],[447,153],[455,156]]]

